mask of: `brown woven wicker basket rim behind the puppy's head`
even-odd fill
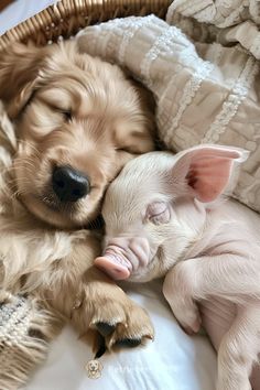
[[[171,0],[61,0],[0,36],[0,51],[14,41],[36,45],[68,39],[95,23],[154,13],[164,18]]]

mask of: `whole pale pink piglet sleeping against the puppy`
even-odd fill
[[[260,353],[260,218],[221,198],[246,159],[243,150],[201,145],[129,162],[106,194],[95,260],[117,280],[165,275],[180,324],[191,334],[203,322],[218,349],[218,390],[250,390]]]

